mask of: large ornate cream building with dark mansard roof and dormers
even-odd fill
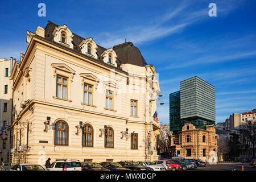
[[[49,21],[28,31],[27,43],[11,75],[13,163],[150,159],[160,89],[154,65],[133,43],[104,48]],[[152,160],[158,133],[152,119]]]

